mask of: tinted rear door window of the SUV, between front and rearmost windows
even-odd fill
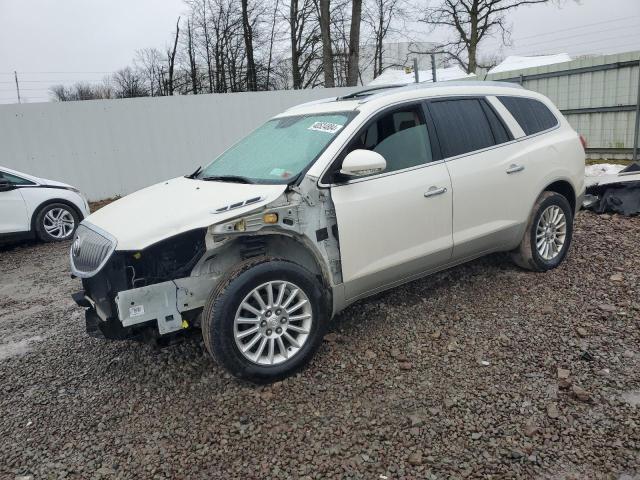
[[[482,150],[509,140],[502,122],[480,99],[432,101],[429,102],[429,111],[444,158]],[[488,114],[492,115],[491,121]]]

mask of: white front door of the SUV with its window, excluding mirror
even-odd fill
[[[369,122],[347,147],[380,153],[382,173],[331,187],[347,300],[418,277],[451,259],[452,194],[421,104]]]

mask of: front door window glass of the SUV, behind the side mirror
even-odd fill
[[[420,105],[387,113],[360,132],[346,152],[373,150],[387,161],[385,172],[429,163],[433,160],[429,133]]]

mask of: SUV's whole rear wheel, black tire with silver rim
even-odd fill
[[[535,272],[556,268],[567,256],[573,235],[573,211],[556,192],[543,192],[531,211],[520,246],[511,254],[516,265]]]

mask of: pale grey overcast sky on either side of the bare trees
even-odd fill
[[[501,54],[640,50],[640,0],[563,4],[510,13],[514,44]],[[185,10],[182,0],[0,0],[0,103],[16,101],[14,70],[23,99],[46,101],[53,84],[100,81],[130,64],[136,50],[164,49]],[[484,54],[498,49],[491,39],[482,46]]]

